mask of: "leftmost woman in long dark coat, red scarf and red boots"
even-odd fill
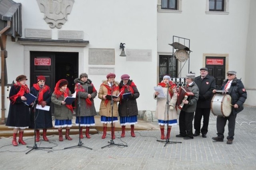
[[[23,141],[24,129],[28,128],[30,125],[30,114],[29,106],[24,104],[24,100],[27,100],[24,96],[29,93],[28,86],[26,84],[27,77],[25,75],[20,75],[16,78],[16,83],[12,85],[10,89],[9,99],[10,108],[8,113],[8,118],[6,120],[6,126],[13,128],[13,139],[12,145],[18,146],[16,136],[19,131],[20,144],[25,145],[26,142]],[[33,103],[32,103],[33,104]],[[31,105],[32,105],[31,104]]]

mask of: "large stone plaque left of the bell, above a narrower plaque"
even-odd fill
[[[115,49],[112,48],[89,48],[89,64],[91,65],[114,65]]]

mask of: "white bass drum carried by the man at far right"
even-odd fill
[[[231,96],[228,94],[214,94],[211,110],[215,116],[228,117],[232,112]]]

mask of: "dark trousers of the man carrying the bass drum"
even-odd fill
[[[222,117],[218,116],[217,117],[217,135],[219,138],[224,138],[224,130],[226,126],[226,122],[228,120],[228,136],[227,139],[234,139],[235,135],[235,126],[236,126],[236,114],[234,115],[232,112],[230,116],[228,117]]]

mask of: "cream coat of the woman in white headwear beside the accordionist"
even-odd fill
[[[166,87],[163,88],[164,94],[167,94],[167,89],[168,88],[166,88]],[[166,97],[165,98],[158,98],[158,96],[156,96],[154,94],[154,99],[157,100],[155,116],[158,120],[167,120],[167,110],[168,110],[168,113],[169,113],[169,119],[168,120],[178,119],[177,110],[175,108],[177,98],[178,98],[178,92],[177,92],[176,87],[173,88],[173,92],[174,92],[174,94],[173,94],[172,98],[170,97],[170,94],[168,93],[169,106],[167,106]],[[174,109],[170,110],[170,106],[174,107]]]

